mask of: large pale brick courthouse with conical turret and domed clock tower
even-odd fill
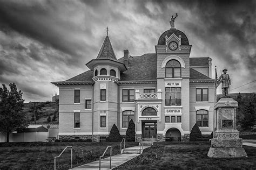
[[[124,49],[118,59],[106,36],[98,56],[86,63],[89,71],[52,82],[59,87],[59,139],[103,141],[113,124],[125,135],[130,119],[136,140],[184,141],[196,123],[211,134],[212,59],[190,58],[192,45],[174,26],[156,44],[156,53],[130,56]]]

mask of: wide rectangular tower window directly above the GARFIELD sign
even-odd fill
[[[181,88],[165,88],[165,105],[181,105]]]

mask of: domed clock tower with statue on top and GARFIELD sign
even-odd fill
[[[161,34],[155,46],[157,54],[157,88],[165,96],[161,104],[161,110],[164,110],[165,116],[161,118],[162,120],[158,123],[158,127],[159,129],[164,129],[164,133],[170,128],[178,129],[181,133],[181,138],[184,138],[190,133],[191,45],[186,34],[174,27],[175,18],[171,18],[171,28]],[[170,113],[168,112],[170,109],[180,110],[180,112]],[[172,124],[165,123],[166,116],[181,116],[182,121]]]

